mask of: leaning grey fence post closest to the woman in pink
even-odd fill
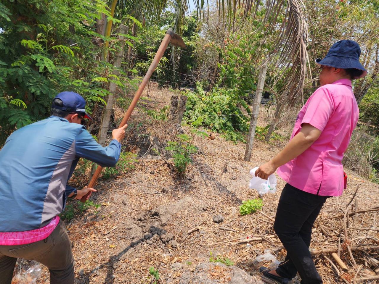
[[[263,66],[261,67],[259,71],[257,90],[255,91],[254,104],[253,104],[251,120],[250,120],[249,134],[247,136],[247,144],[246,144],[245,157],[244,157],[245,161],[250,161],[250,158],[251,158],[251,151],[253,149],[253,143],[254,143],[255,128],[257,127],[259,107],[260,107],[260,102],[262,99],[263,86],[265,85],[267,66],[268,66],[268,59],[265,59],[265,62],[263,63]]]

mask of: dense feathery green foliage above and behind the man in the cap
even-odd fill
[[[110,15],[102,0],[2,2],[0,147],[15,129],[48,117],[59,92],[83,95],[91,112],[105,103],[110,81],[120,88],[132,81],[97,60],[101,47],[92,40],[102,37],[94,31],[99,13]]]

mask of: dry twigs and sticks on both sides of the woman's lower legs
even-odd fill
[[[359,208],[358,189],[359,186],[348,204],[328,204],[327,211],[321,212],[312,230],[311,254],[325,283],[376,283],[379,280],[379,229],[376,226],[379,206]],[[256,234],[240,240],[240,244],[246,246],[254,242],[254,248],[244,250],[240,258],[258,255],[266,249],[273,254],[279,252],[278,259],[283,259],[285,251],[282,247],[275,248],[279,242],[272,228],[273,218],[259,213],[268,220],[263,218],[259,223],[262,215],[254,221],[250,219]],[[248,269],[249,265],[247,262],[243,266]]]

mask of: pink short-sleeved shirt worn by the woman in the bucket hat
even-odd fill
[[[322,196],[343,192],[342,158],[357,125],[359,109],[348,79],[319,87],[299,112],[291,139],[302,123],[321,131],[297,158],[282,165],[278,175],[291,186]]]

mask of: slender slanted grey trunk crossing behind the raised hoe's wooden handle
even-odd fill
[[[120,25],[120,33],[126,34],[127,32],[128,32],[128,27],[125,25]],[[121,45],[120,45],[119,50],[116,53],[116,57],[113,63],[113,71],[112,71],[112,74],[116,76],[120,75],[119,69],[121,67],[122,58],[124,57],[125,39],[126,37],[119,36],[119,41],[121,41]],[[111,114],[113,111],[113,101],[114,101],[114,94],[116,93],[116,88],[117,88],[117,85],[115,83],[113,82],[109,83],[109,87],[108,87],[109,95],[108,97],[106,97],[106,106],[103,108],[103,112],[101,115],[99,135],[98,135],[98,140],[97,140],[99,144],[102,146],[104,146],[106,142],[106,134],[108,133],[109,122],[110,122]],[[90,180],[96,170],[96,167],[97,167],[96,164],[92,166]]]

